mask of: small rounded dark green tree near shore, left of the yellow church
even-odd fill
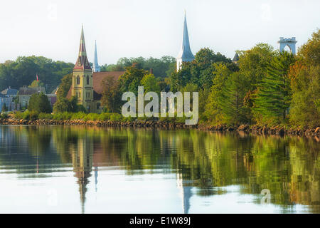
[[[28,110],[37,113],[51,113],[52,108],[48,97],[44,93],[34,93],[28,103]]]

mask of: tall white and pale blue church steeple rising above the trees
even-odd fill
[[[191,52],[190,43],[189,43],[189,35],[188,35],[188,27],[186,24],[186,13],[184,14],[184,23],[183,23],[183,38],[182,38],[182,46],[181,51],[176,58],[176,71],[181,70],[183,62],[193,61],[194,56]]]

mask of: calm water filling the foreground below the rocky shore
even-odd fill
[[[1,213],[320,213],[319,177],[306,138],[0,126]]]

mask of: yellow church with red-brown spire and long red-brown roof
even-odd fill
[[[95,66],[97,66],[96,63],[94,63]],[[92,72],[92,68],[87,59],[85,36],[82,26],[79,54],[75,67],[73,68],[73,81],[67,98],[77,96],[78,104],[83,105],[88,112],[101,113],[102,81],[108,77],[117,80],[123,73],[124,71]]]

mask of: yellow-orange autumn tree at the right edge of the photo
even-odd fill
[[[292,103],[289,120],[293,125],[320,125],[320,29],[314,32],[297,54],[289,71]]]

